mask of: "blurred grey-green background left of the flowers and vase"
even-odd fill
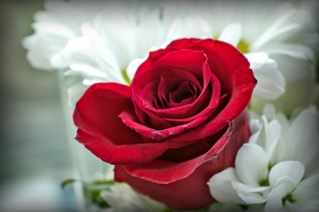
[[[74,210],[57,72],[35,70],[21,47],[43,1],[1,1],[0,211]]]

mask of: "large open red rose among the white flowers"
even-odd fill
[[[116,181],[170,208],[202,208],[214,201],[208,179],[249,138],[244,110],[255,84],[230,44],[177,40],[151,52],[130,87],[89,87],[74,111],[76,139],[115,164]]]

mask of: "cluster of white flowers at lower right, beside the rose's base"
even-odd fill
[[[235,168],[214,175],[210,191],[221,202],[265,203],[266,211],[319,209],[318,113],[311,107],[289,121],[274,111],[268,107],[251,121],[253,135],[238,150]]]

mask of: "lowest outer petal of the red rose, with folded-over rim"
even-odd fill
[[[248,118],[242,114],[231,122],[230,130],[213,148],[192,160],[193,164],[185,162],[167,166],[169,163],[162,163],[156,169],[147,163],[117,165],[115,180],[127,182],[136,191],[166,203],[169,208],[203,208],[214,201],[206,184],[209,178],[234,165],[237,150],[249,135]]]

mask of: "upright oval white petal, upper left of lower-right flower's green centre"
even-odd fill
[[[243,183],[259,186],[268,175],[268,156],[260,146],[247,143],[238,150],[235,167]]]

